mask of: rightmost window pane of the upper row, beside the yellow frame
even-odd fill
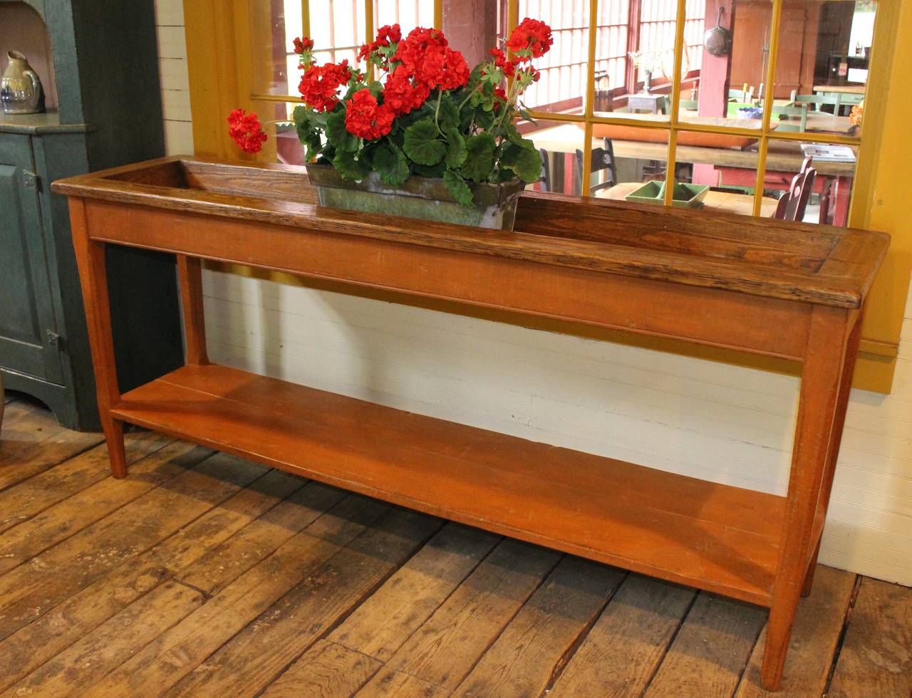
[[[775,75],[778,128],[843,136],[857,130],[853,121],[860,121],[863,108],[875,14],[875,0],[783,0]]]

